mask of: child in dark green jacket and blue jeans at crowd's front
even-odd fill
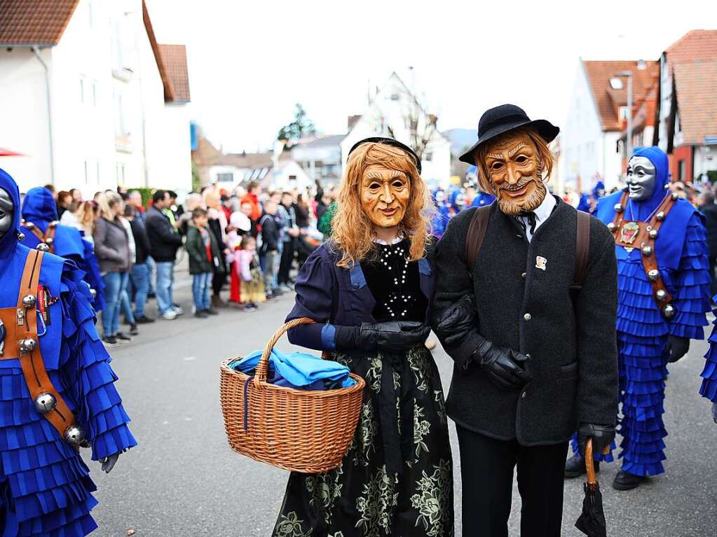
[[[189,274],[193,276],[191,291],[194,296],[194,316],[206,319],[216,315],[209,302],[214,266],[219,264],[219,241],[209,230],[206,209],[197,207],[191,211],[191,225],[186,233],[186,251],[189,254]]]

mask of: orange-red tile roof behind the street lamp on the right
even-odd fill
[[[637,62],[632,61],[584,61],[592,95],[602,120],[602,130],[621,130],[619,107],[627,105],[627,81],[623,77],[623,89],[612,89],[610,79],[621,71],[632,72],[632,98],[645,95],[659,76],[660,64],[645,62],[645,69],[637,69]]]

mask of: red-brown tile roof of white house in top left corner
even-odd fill
[[[49,46],[60,42],[79,0],[0,1],[0,45]]]

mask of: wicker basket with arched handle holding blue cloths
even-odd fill
[[[302,473],[326,472],[341,464],[359,421],[364,379],[351,374],[356,384],[326,391],[295,390],[266,382],[269,355],[276,342],[294,326],[313,322],[294,319],[278,329],[253,378],[229,367],[239,358],[222,362],[222,413],[232,450]]]

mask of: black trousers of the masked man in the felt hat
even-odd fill
[[[513,468],[518,466],[521,537],[560,537],[568,442],[526,448],[458,425],[463,535],[508,537]]]

